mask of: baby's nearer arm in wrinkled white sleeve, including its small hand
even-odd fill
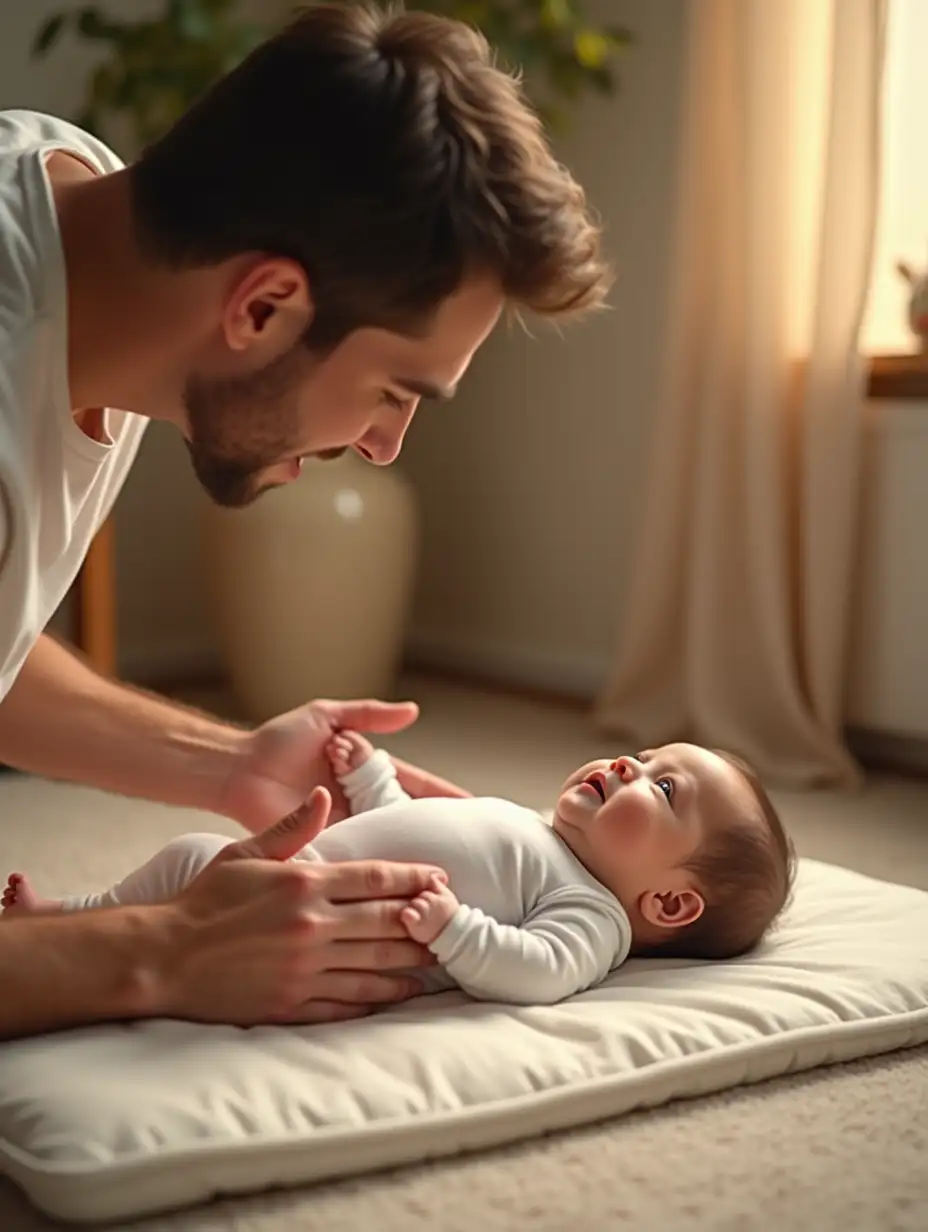
[[[569,891],[542,899],[514,925],[462,906],[436,882],[401,920],[468,995],[516,1005],[550,1005],[583,992],[625,949],[615,918]]]

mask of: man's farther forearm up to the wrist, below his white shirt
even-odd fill
[[[105,680],[39,638],[0,702],[0,761],[124,796],[216,811],[246,733]]]

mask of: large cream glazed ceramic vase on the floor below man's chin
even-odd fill
[[[314,697],[391,697],[418,556],[408,480],[354,452],[307,461],[245,509],[211,506],[216,636],[245,716]]]

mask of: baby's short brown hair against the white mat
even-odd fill
[[[752,950],[789,902],[796,853],[757,772],[741,758],[712,750],[751,787],[758,818],[718,827],[686,860],[705,909],[699,919],[673,930],[649,949],[651,957],[736,958]]]

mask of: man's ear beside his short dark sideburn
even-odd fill
[[[281,354],[309,328],[312,299],[296,261],[264,257],[243,270],[226,296],[222,330],[233,351]]]

